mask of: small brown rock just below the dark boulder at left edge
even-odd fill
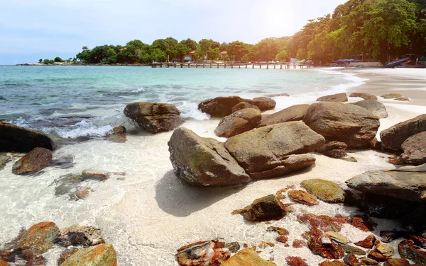
[[[48,167],[53,155],[50,149],[35,148],[13,164],[12,173],[28,175]]]

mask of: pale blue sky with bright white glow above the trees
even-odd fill
[[[0,0],[0,65],[75,57],[82,46],[190,37],[290,36],[345,0]]]

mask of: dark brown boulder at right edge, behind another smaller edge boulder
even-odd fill
[[[380,138],[385,148],[399,150],[405,139],[425,131],[426,114],[423,114],[383,130]]]

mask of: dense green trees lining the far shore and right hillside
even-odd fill
[[[93,64],[149,64],[179,61],[195,51],[195,60],[284,61],[290,57],[332,62],[339,58],[388,62],[405,54],[426,55],[426,0],[349,0],[332,14],[309,20],[295,35],[269,37],[251,45],[173,37],[151,45],[132,40],[126,45],[83,47],[76,55]],[[226,51],[224,56],[221,52]]]

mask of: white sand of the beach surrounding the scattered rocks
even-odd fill
[[[285,70],[283,70],[285,71]],[[303,70],[302,70],[303,71]],[[389,117],[381,119],[381,130],[398,122],[426,113],[426,70],[425,69],[344,69],[346,73],[356,74],[368,79],[365,84],[350,88],[351,92],[366,92],[376,96],[384,93],[400,93],[410,98],[409,102],[396,100],[379,101],[386,105]],[[291,97],[291,96],[290,96]],[[279,102],[280,99],[277,99]],[[349,98],[350,102],[362,100]],[[281,108],[275,109],[278,111]],[[202,137],[215,137],[217,119],[189,120],[183,127],[193,130]],[[300,212],[334,216],[357,214],[355,208],[341,204],[320,202],[315,207],[295,204],[295,213],[288,214],[279,221],[253,223],[241,215],[232,215],[234,209],[251,204],[253,199],[269,194],[287,185],[298,185],[302,180],[322,178],[331,180],[342,187],[344,181],[367,170],[394,168],[387,162],[387,154],[378,151],[349,151],[357,163],[314,154],[315,166],[301,173],[295,173],[260,180],[244,187],[209,188],[190,187],[182,184],[174,173],[169,159],[168,139],[172,132],[161,134],[128,134],[124,144],[109,141],[91,140],[81,144],[63,146],[55,151],[56,158],[72,154],[75,166],[69,169],[50,170],[35,183],[31,179],[16,176],[15,187],[0,184],[0,202],[8,205],[9,212],[22,212],[10,218],[0,217],[0,224],[8,224],[1,229],[0,243],[9,241],[18,233],[19,226],[31,226],[39,221],[54,221],[60,228],[72,224],[98,226],[104,238],[112,243],[118,256],[118,265],[178,265],[175,251],[182,245],[201,240],[222,238],[226,242],[238,241],[241,245],[258,245],[261,241],[271,241],[275,247],[261,250],[261,257],[273,258],[277,265],[286,265],[288,256],[300,256],[308,265],[317,265],[324,258],[313,254],[308,248],[293,248],[291,243],[302,239],[301,234],[307,226],[300,224],[296,215]],[[216,137],[217,138],[217,137]],[[223,138],[217,138],[224,141]],[[148,146],[155,149],[146,149]],[[153,145],[155,144],[155,145]],[[84,147],[84,148],[83,148]],[[14,161],[16,161],[14,159]],[[13,161],[13,162],[14,162]],[[11,171],[13,162],[4,171]],[[151,167],[150,167],[151,166]],[[152,167],[152,166],[155,166]],[[113,175],[103,183],[90,183],[94,191],[79,202],[70,202],[65,197],[55,198],[55,187],[51,180],[67,173],[80,173],[84,169],[95,168],[125,175]],[[152,169],[141,171],[140,169]],[[124,180],[121,180],[124,178]],[[39,188],[35,189],[34,188]],[[19,192],[11,192],[18,190]],[[4,195],[14,195],[6,198]],[[40,200],[34,200],[34,199]],[[40,202],[45,202],[40,206]],[[284,199],[283,202],[290,202]],[[378,222],[376,231],[400,229],[398,222],[374,219]],[[280,226],[290,231],[289,247],[275,241],[277,234],[267,232],[268,226]],[[351,241],[360,241],[368,233],[345,224],[342,233]],[[395,245],[396,242],[393,243]],[[59,249],[49,251],[48,265],[55,265]]]

